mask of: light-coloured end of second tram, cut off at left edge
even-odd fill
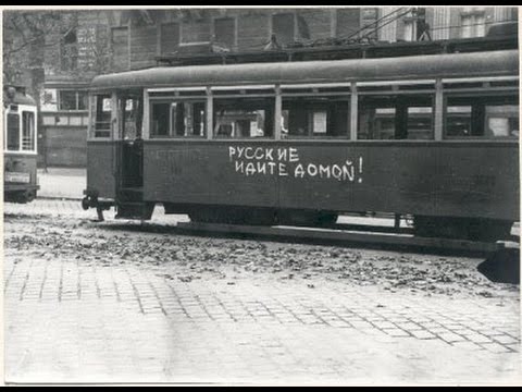
[[[39,189],[37,107],[24,87],[4,86],[3,93],[3,197],[28,203]]]

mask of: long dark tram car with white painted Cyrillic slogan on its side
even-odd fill
[[[519,220],[519,52],[153,68],[90,91],[84,208],[324,224],[412,217],[423,236]]]

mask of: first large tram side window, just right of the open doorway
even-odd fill
[[[151,106],[150,137],[203,137],[206,125],[206,101],[179,100]]]

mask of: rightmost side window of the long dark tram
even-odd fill
[[[456,138],[518,137],[518,97],[448,97],[446,102],[446,136]]]

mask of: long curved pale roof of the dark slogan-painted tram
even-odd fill
[[[398,81],[518,73],[519,51],[498,50],[384,59],[160,66],[100,75],[92,79],[91,89]]]

